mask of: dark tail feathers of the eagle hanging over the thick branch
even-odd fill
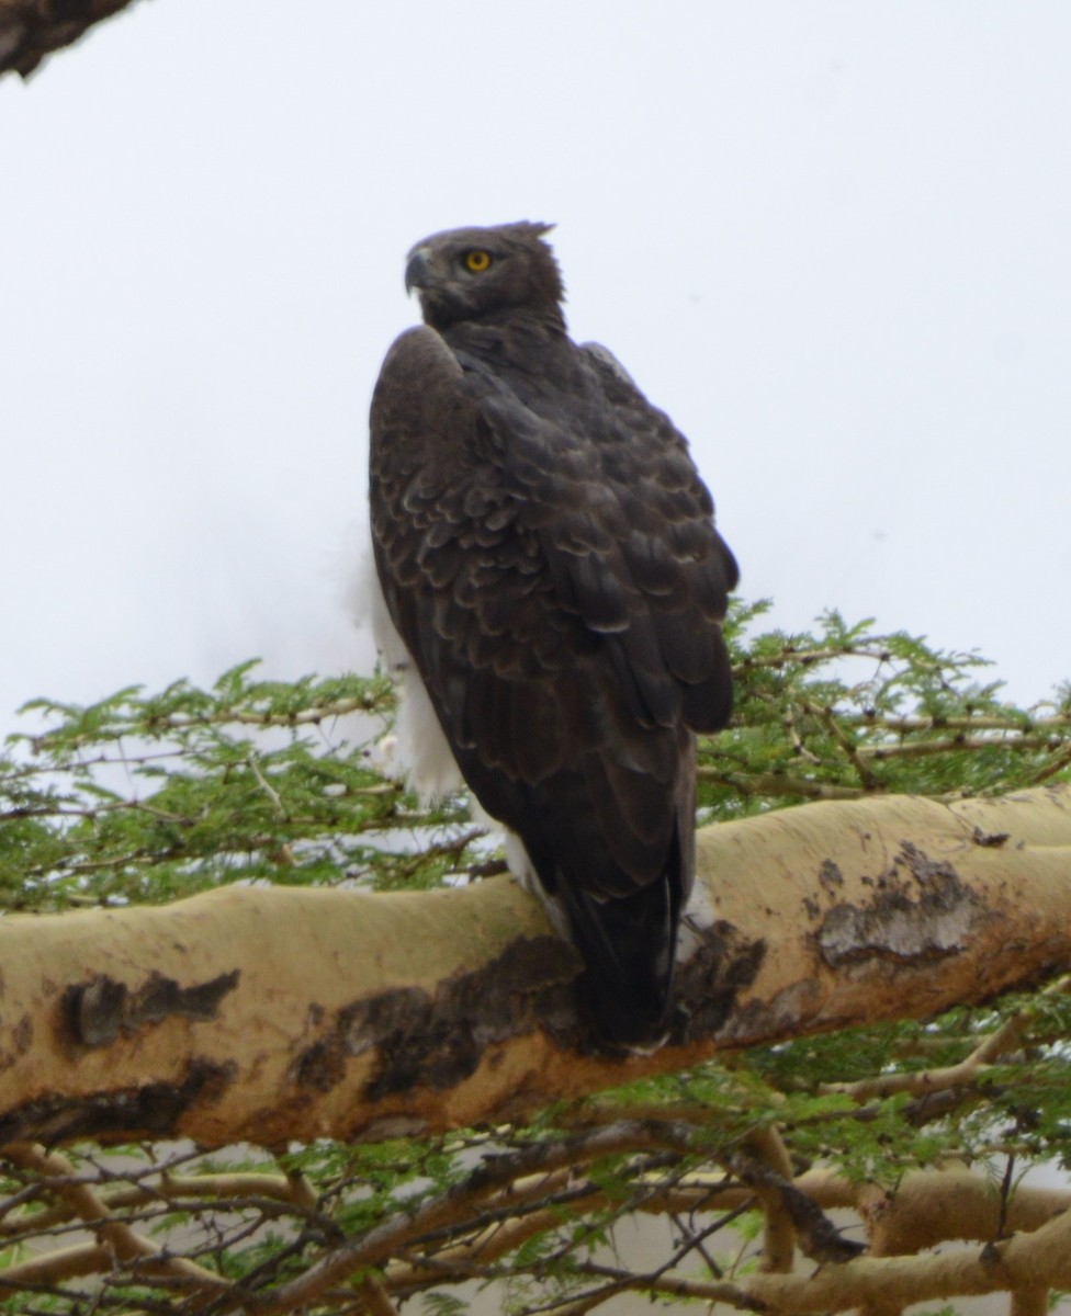
[[[581,1003],[599,1038],[624,1050],[665,1041],[673,1015],[676,901],[665,878],[631,896],[595,900],[561,884],[585,963]]]

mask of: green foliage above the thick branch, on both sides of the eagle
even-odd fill
[[[950,796],[1067,778],[1066,696],[1018,709],[987,666],[904,633],[727,625],[732,726],[701,745],[705,819],[814,797]],[[224,882],[419,887],[486,859],[462,799],[428,812],[377,770],[394,694],[382,678],[132,686],[88,707],[37,699],[37,733],[0,757],[0,904],[165,901]]]

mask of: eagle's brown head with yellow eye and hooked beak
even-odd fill
[[[564,324],[561,272],[543,241],[552,226],[522,220],[433,233],[408,254],[406,291],[418,290],[432,329],[522,308]]]

